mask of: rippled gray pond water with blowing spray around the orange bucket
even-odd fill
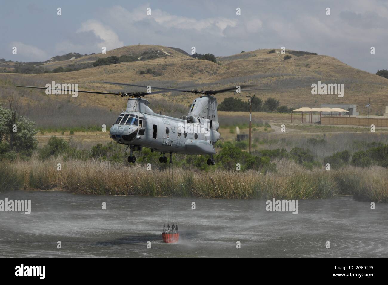
[[[173,198],[175,245],[161,235],[170,198],[0,193],[5,198],[31,200],[31,214],[0,212],[0,257],[388,257],[388,205],[371,210],[347,197],[299,200],[297,215],[267,212],[265,200]]]

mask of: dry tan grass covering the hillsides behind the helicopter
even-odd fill
[[[266,99],[274,97],[281,105],[288,107],[319,107],[322,103],[352,103],[360,107],[360,112],[365,114],[365,98],[371,98],[374,103],[374,112],[383,113],[385,108],[385,98],[388,92],[387,79],[378,75],[364,72],[352,68],[341,61],[324,55],[300,56],[283,61],[276,53],[267,54],[268,49],[245,52],[243,55],[218,58],[220,65],[206,60],[192,59],[189,56],[170,49],[156,45],[128,46],[114,49],[107,54],[95,54],[85,56],[78,61],[95,61],[97,58],[107,56],[120,56],[123,54],[141,54],[146,50],[163,49],[170,56],[121,63],[108,66],[97,66],[75,72],[50,73],[36,75],[22,75],[3,73],[2,77],[7,79],[28,79],[44,80],[51,82],[74,82],[79,84],[81,89],[109,91],[114,86],[101,84],[103,81],[116,82],[184,82],[192,81],[195,86],[217,89],[218,87],[234,86],[235,84],[253,84],[260,87],[272,87],[274,90],[258,91],[256,96]],[[63,61],[52,63],[51,67],[67,66],[73,61]],[[49,66],[48,65],[48,66]],[[154,77],[153,75],[142,75],[139,72],[151,68],[162,71],[163,75]],[[128,81],[129,79],[129,81]],[[322,83],[343,83],[345,93],[343,98],[336,95],[312,95],[311,84],[321,81]],[[146,84],[147,85],[147,84]],[[155,84],[155,86],[157,86]],[[121,89],[123,90],[123,89]],[[128,89],[126,89],[128,91]],[[42,91],[43,92],[43,91]],[[242,94],[245,95],[245,94]],[[218,102],[233,95],[231,93],[218,94]],[[151,97],[151,96],[150,96]],[[90,98],[98,98],[91,101]],[[163,98],[162,95],[152,95],[151,98]],[[176,99],[173,94],[164,96],[166,100]],[[181,94],[180,99],[186,105],[196,98],[194,94]],[[117,101],[116,101],[117,100]],[[104,96],[80,96],[78,101],[81,104],[99,105],[108,110],[118,108],[118,98],[116,100],[106,100]]]

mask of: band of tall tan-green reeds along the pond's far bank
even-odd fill
[[[57,163],[62,162],[62,170]],[[378,166],[325,171],[277,161],[277,171],[186,170],[147,171],[145,165],[126,165],[90,159],[51,157],[45,161],[0,164],[0,191],[65,189],[79,194],[206,197],[230,199],[311,199],[353,195],[362,201],[388,203],[388,170]]]

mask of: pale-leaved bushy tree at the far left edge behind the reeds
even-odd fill
[[[18,152],[31,155],[38,145],[35,122],[20,114],[16,101],[8,101],[9,109],[0,107],[0,158],[5,157],[6,152],[13,157]]]

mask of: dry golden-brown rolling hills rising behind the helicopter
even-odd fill
[[[258,87],[270,87],[274,90],[259,91],[256,96],[276,98],[281,105],[288,107],[320,107],[321,103],[357,104],[360,112],[365,112],[365,104],[371,98],[372,114],[383,113],[388,105],[388,79],[355,69],[336,58],[326,55],[306,54],[295,56],[288,51],[291,58],[284,60],[270,49],[258,49],[231,56],[218,57],[217,63],[194,59],[178,48],[159,45],[131,45],[121,47],[106,54],[91,54],[72,57],[66,60],[50,60],[44,67],[53,70],[59,66],[90,65],[98,58],[127,55],[130,62],[89,67],[73,72],[62,73],[0,73],[0,100],[15,94],[23,103],[42,106],[45,100],[58,100],[77,106],[99,107],[105,110],[119,110],[125,107],[125,99],[106,95],[79,94],[78,98],[68,95],[46,95],[44,91],[20,89],[15,86],[45,86],[46,83],[78,83],[78,89],[94,91],[143,91],[139,88],[122,88],[121,86],[103,84],[103,81],[124,82],[159,87],[185,87],[218,89],[222,87],[251,84]],[[76,53],[74,53],[76,54]],[[61,57],[56,57],[61,59]],[[66,58],[69,58],[67,56]],[[0,64],[11,66],[13,63]],[[8,67],[12,70],[12,67]],[[312,95],[311,84],[343,83],[344,96]],[[31,96],[33,94],[33,96]],[[237,96],[244,99],[245,93],[218,94],[218,103],[226,97]],[[50,98],[48,98],[50,96]],[[41,99],[40,99],[41,98]],[[149,96],[173,100],[184,105],[192,102],[196,95],[188,93],[164,93]],[[116,112],[116,113],[117,113]]]

